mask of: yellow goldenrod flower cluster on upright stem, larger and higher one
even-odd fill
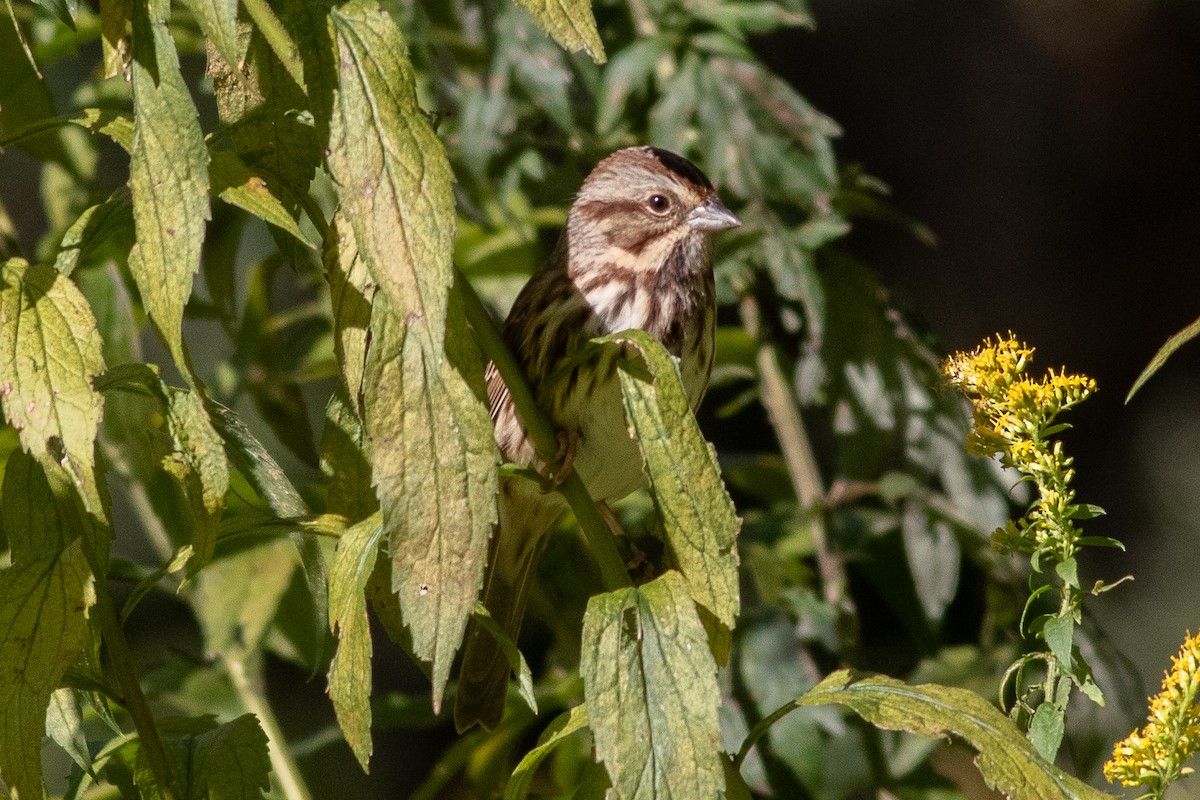
[[[1038,486],[1039,499],[1022,524],[1010,524],[995,539],[998,547],[1027,553],[1072,537],[1072,459],[1050,437],[1061,429],[1054,425],[1055,417],[1096,391],[1094,380],[1064,369],[1050,369],[1040,380],[1030,378],[1026,369],[1032,356],[1033,348],[1012,333],[997,335],[995,342],[984,339],[971,353],[955,353],[944,367],[946,375],[974,408],[968,447],[980,455],[1001,453],[1006,465]],[[1064,545],[1069,551],[1070,545]]]

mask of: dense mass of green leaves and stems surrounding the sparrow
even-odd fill
[[[1013,796],[1098,794],[978,696],[1026,646],[1027,567],[986,547],[1014,481],[966,453],[937,355],[847,246],[877,221],[928,231],[750,48],[811,25],[802,0],[6,10],[0,146],[38,163],[46,217],[0,207],[12,796],[349,794],[366,778],[337,765],[367,770],[403,728],[439,745],[404,764],[415,798],[946,796],[940,746],[896,728],[962,738]],[[488,306],[590,167],[643,142],[744,222],[718,242],[710,397],[697,426],[660,345],[592,345],[619,359],[652,489],[617,539],[566,477],[574,519],[503,643],[520,688],[497,730],[454,738],[511,469],[487,360],[557,444]],[[178,607],[194,640],[156,618]],[[1042,631],[1085,681],[1090,633]],[[384,636],[419,666],[407,691],[376,690]],[[328,687],[299,744],[275,706],[304,680],[264,688],[280,664]]]

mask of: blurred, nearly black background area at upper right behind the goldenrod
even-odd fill
[[[812,0],[816,30],[760,52],[844,128],[935,248],[889,230],[853,246],[947,351],[1012,330],[1034,368],[1100,391],[1069,414],[1091,603],[1156,688],[1200,627],[1200,341],[1134,379],[1200,317],[1200,4],[1189,0]],[[1126,721],[1132,727],[1139,720]],[[1120,726],[1121,723],[1117,722]]]

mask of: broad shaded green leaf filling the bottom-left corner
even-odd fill
[[[94,602],[80,540],[0,571],[0,778],[22,798],[44,796],[46,709],[88,639]]]

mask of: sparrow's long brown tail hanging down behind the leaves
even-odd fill
[[[562,513],[558,493],[545,493],[524,477],[500,481],[499,523],[492,536],[482,601],[496,624],[514,643],[521,632],[529,587],[538,559],[546,549],[547,534]],[[509,661],[499,643],[474,620],[467,627],[458,697],[454,718],[460,732],[475,723],[496,728],[504,715],[509,686]]]

